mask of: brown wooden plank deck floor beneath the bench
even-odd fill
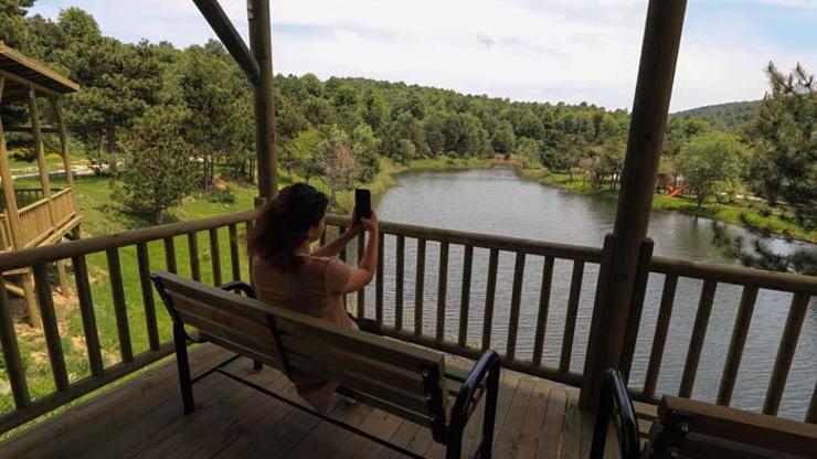
[[[198,374],[229,356],[204,344],[191,352]],[[450,362],[449,364],[461,364]],[[296,397],[279,372],[252,372],[241,359],[232,371]],[[267,397],[220,374],[194,385],[197,410],[183,416],[170,361],[0,444],[3,458],[388,458],[382,446]],[[579,410],[579,391],[502,371],[496,458],[587,458],[593,418]],[[336,418],[427,457],[444,457],[425,428],[364,404],[338,401]],[[468,425],[476,437],[481,408]],[[468,446],[470,448],[470,445]],[[465,449],[468,451],[469,449]]]

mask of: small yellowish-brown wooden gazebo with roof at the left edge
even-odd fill
[[[0,253],[20,250],[59,243],[70,232],[78,232],[79,216],[76,213],[71,170],[71,158],[61,109],[64,94],[79,90],[79,86],[43,64],[24,56],[0,41],[0,113],[10,104],[24,104],[29,108],[30,126],[19,126],[9,131],[26,132],[33,138],[36,154],[40,188],[18,188],[9,163],[2,121],[0,121],[0,184],[2,185],[2,215],[0,215]],[[54,111],[57,126],[43,127],[39,97],[45,97]],[[60,137],[60,154],[63,159],[65,186],[52,188],[45,163],[43,132],[55,132]],[[40,324],[40,311],[33,288],[31,270],[19,275],[22,288],[7,282],[6,287],[25,298],[29,321]],[[65,265],[57,264],[60,286],[66,288]],[[3,279],[6,281],[6,279]]]

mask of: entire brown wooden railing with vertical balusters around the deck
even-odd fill
[[[0,273],[13,269],[31,267],[34,273],[38,300],[42,311],[43,333],[47,349],[47,357],[54,381],[55,391],[46,396],[33,398],[29,392],[26,372],[23,365],[23,359],[20,354],[18,335],[14,331],[12,318],[9,311],[9,299],[4,286],[0,282],[0,345],[2,346],[3,359],[6,363],[7,377],[11,385],[13,394],[14,410],[0,417],[0,431],[19,426],[40,415],[43,415],[54,408],[68,403],[70,401],[85,395],[98,387],[102,387],[114,380],[117,380],[128,373],[139,370],[151,362],[157,361],[171,353],[170,337],[160,335],[157,322],[156,299],[152,287],[149,281],[151,270],[167,269],[178,271],[177,256],[178,252],[184,253],[188,259],[189,269],[181,275],[190,275],[193,279],[202,279],[203,271],[209,270],[214,284],[230,280],[223,276],[227,271],[233,279],[241,279],[242,273],[246,265],[243,265],[242,254],[244,245],[240,241],[240,230],[248,230],[251,225],[252,212],[237,213],[232,215],[220,216],[215,218],[201,220],[195,222],[177,223],[126,233],[94,237],[77,242],[59,244],[49,247],[39,247],[15,253],[9,253],[0,256]],[[328,225],[342,231],[346,220],[341,216],[330,215]],[[221,231],[220,231],[221,228]],[[222,250],[220,234],[224,234],[226,228],[229,250]],[[353,298],[353,308],[358,312],[369,314],[380,322],[385,333],[394,338],[427,345],[445,352],[450,352],[468,357],[478,355],[482,350],[494,346],[500,346],[502,352],[503,364],[517,371],[531,375],[547,377],[553,381],[563,382],[571,385],[580,385],[582,380],[581,372],[571,371],[570,363],[576,348],[576,317],[579,311],[582,282],[585,277],[585,270],[588,266],[597,268],[602,261],[604,253],[601,248],[581,247],[564,244],[552,244],[531,239],[521,239],[503,236],[492,236],[484,234],[474,234],[456,231],[446,231],[438,228],[428,228],[414,225],[395,224],[381,222],[381,256],[378,266],[378,274],[374,280],[373,290],[373,311],[367,309],[367,293],[360,292]],[[336,232],[333,228],[332,232]],[[199,235],[202,234],[209,238],[209,254],[206,257],[200,255]],[[326,235],[325,235],[326,237]],[[386,246],[384,239],[394,239],[394,253],[385,254]],[[404,305],[404,293],[406,287],[406,242],[412,241],[416,247],[414,259],[414,281],[415,290],[414,305],[406,308]],[[163,260],[150,259],[148,244],[161,244],[163,246]],[[177,243],[184,244],[187,250],[178,250]],[[438,246],[436,253],[437,278],[433,279],[437,285],[436,301],[434,310],[429,311],[428,305],[424,300],[425,295],[425,270],[426,270],[426,248],[428,243]],[[449,253],[454,247],[459,246],[463,250],[463,258],[458,260],[458,266],[452,266],[449,263]],[[362,253],[362,244],[358,244],[358,253]],[[459,250],[458,248],[458,250]],[[123,250],[134,250],[137,254],[138,279],[131,279],[139,282],[141,308],[146,321],[149,349],[145,352],[134,352],[131,345],[131,331],[128,322],[128,307],[126,306],[126,279],[123,277],[120,253]],[[473,301],[470,300],[471,275],[475,268],[475,250],[487,250],[487,279],[485,303],[480,305],[482,321],[479,330],[469,329],[469,318],[474,316]],[[107,277],[105,282],[110,285],[110,298],[107,302],[100,301],[99,298],[92,298],[92,280],[88,275],[87,258],[93,254],[104,254],[107,261]],[[507,314],[499,314],[495,305],[495,292],[498,288],[497,270],[500,255],[511,254],[514,258],[511,292],[510,310]],[[341,254],[347,257],[346,250]],[[388,257],[385,255],[389,255]],[[537,305],[526,305],[526,307],[537,308],[537,320],[533,340],[533,352],[530,357],[520,356],[517,352],[519,343],[520,310],[522,305],[522,284],[524,281],[526,257],[537,257],[542,259],[542,275],[540,282],[540,296]],[[243,258],[246,263],[246,257]],[[394,261],[394,285],[385,284],[385,259]],[[87,362],[91,374],[77,381],[70,381],[68,369],[66,367],[63,354],[60,330],[55,307],[52,299],[52,287],[47,279],[49,265],[57,260],[70,260],[76,281],[76,293],[78,298],[78,313],[82,317],[82,327],[84,331],[84,341],[87,349]],[[567,308],[564,320],[564,329],[561,332],[560,357],[556,364],[543,363],[543,346],[545,335],[553,332],[548,330],[548,316],[551,308],[551,290],[554,288],[552,282],[554,264],[570,263],[572,265],[570,276],[570,287],[567,296]],[[208,266],[209,265],[209,266]],[[244,268],[242,267],[244,266]],[[209,269],[208,269],[209,268]],[[391,269],[391,267],[390,267]],[[449,274],[455,269],[461,269],[461,286],[459,295],[460,307],[457,311],[457,318],[447,318],[447,305],[449,299],[447,295],[447,284]],[[709,313],[712,310],[713,291],[719,284],[733,284],[743,287],[743,300],[740,305],[739,318],[734,330],[732,331],[732,345],[729,351],[729,359],[723,372],[721,392],[718,396],[718,403],[729,405],[731,394],[735,384],[738,367],[741,362],[743,344],[746,339],[747,324],[752,317],[753,306],[758,289],[768,289],[783,292],[789,292],[793,296],[788,311],[781,345],[777,351],[777,360],[774,364],[772,378],[768,384],[766,403],[764,412],[776,414],[779,407],[781,397],[785,388],[785,381],[792,365],[794,349],[798,342],[799,331],[804,322],[805,311],[809,299],[817,295],[817,278],[807,276],[794,276],[787,274],[774,274],[740,267],[714,266],[704,264],[686,263],[664,257],[654,257],[649,269],[644,269],[644,276],[652,273],[654,275],[665,276],[664,296],[660,305],[658,324],[656,327],[652,340],[652,350],[647,371],[646,383],[643,387],[633,388],[634,394],[647,402],[656,402],[656,378],[659,372],[660,363],[665,354],[665,343],[667,340],[667,330],[669,328],[669,317],[675,303],[675,288],[679,278],[703,279],[703,289],[697,311],[694,331],[687,352],[687,365],[683,371],[683,377],[679,395],[689,397],[691,387],[694,384],[696,372],[699,366],[701,343],[705,335]],[[247,280],[247,279],[244,279]],[[640,282],[639,286],[645,282]],[[131,288],[134,286],[130,286]],[[385,310],[386,302],[384,297],[386,289],[393,289],[390,297],[393,298],[393,309]],[[132,300],[132,298],[131,298]],[[641,298],[643,302],[643,298]],[[100,305],[110,305],[113,314],[116,319],[116,333],[118,337],[119,363],[106,366],[103,362],[100,352],[99,337],[97,331],[96,311]],[[107,307],[106,307],[107,308]],[[407,321],[405,312],[411,309],[413,312],[412,329],[404,327]],[[436,311],[436,328],[434,333],[426,333],[423,323],[428,320],[428,313]],[[384,321],[384,317],[391,318],[390,323]],[[492,329],[498,327],[498,318],[502,319],[502,327],[507,325],[507,334],[503,342],[495,342]],[[447,335],[445,333],[446,320],[456,320],[456,333]],[[469,340],[468,337],[475,337],[476,340]],[[628,362],[626,363],[629,364]],[[817,397],[817,394],[813,397]],[[813,402],[806,414],[806,420],[817,423],[817,403]]]

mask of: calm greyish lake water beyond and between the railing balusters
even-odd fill
[[[518,178],[506,169],[420,172],[399,177],[376,209],[381,220],[436,226],[450,230],[538,238],[549,242],[600,247],[603,236],[613,228],[615,202],[564,192]],[[732,235],[744,234],[729,227]],[[655,253],[677,258],[734,264],[711,244],[712,223],[677,213],[656,213],[649,235],[655,239]],[[777,250],[786,252],[792,244],[777,241]],[[393,323],[394,305],[394,238],[385,239],[385,307],[384,319]],[[406,239],[404,327],[414,327],[414,290],[416,244]],[[437,266],[439,246],[426,247],[423,330],[436,331]],[[354,253],[354,250],[350,250]],[[449,250],[447,309],[444,333],[456,339],[459,323],[463,248]],[[530,359],[538,313],[543,258],[529,256],[522,286],[522,308],[517,340],[517,355]],[[475,249],[471,275],[468,340],[479,342],[482,330],[482,306],[488,266],[488,250]],[[580,302],[571,370],[582,371],[586,350],[597,265],[586,265]],[[556,260],[553,290],[545,332],[544,363],[559,365],[564,317],[572,263]],[[500,253],[491,346],[502,352],[507,346],[513,255]],[[664,276],[652,275],[644,307],[643,324],[633,364],[632,383],[643,386],[651,339],[660,300]],[[658,382],[658,393],[677,393],[691,335],[694,312],[701,289],[700,281],[681,279],[670,321],[670,332]],[[696,380],[693,397],[713,402],[734,325],[741,290],[719,285],[710,318],[704,349]],[[374,289],[367,290],[367,311],[373,314]],[[733,396],[733,406],[758,410],[772,372],[779,337],[791,302],[791,295],[761,290],[757,297],[746,348]],[[817,380],[817,301],[809,305],[794,364],[784,394],[781,414],[802,419]]]

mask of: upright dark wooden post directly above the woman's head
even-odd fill
[[[255,153],[258,159],[258,202],[272,199],[278,191],[275,146],[275,108],[273,102],[273,47],[269,0],[247,0],[250,49],[261,68],[255,89]]]

